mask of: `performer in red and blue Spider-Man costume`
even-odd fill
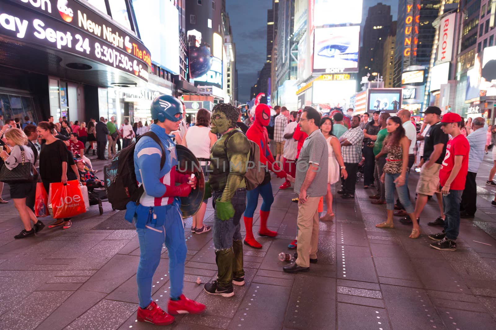
[[[258,94],[257,101],[263,94]],[[255,103],[256,105],[256,103]],[[247,138],[258,144],[260,148],[260,162],[266,166],[266,169],[274,172],[278,178],[286,178],[286,172],[284,172],[279,166],[274,162],[274,157],[270,152],[268,142],[269,136],[267,134],[267,129],[265,126],[269,125],[270,120],[270,107],[267,104],[258,104],[255,107],[255,121],[253,125],[248,128]],[[260,231],[258,234],[260,236],[277,236],[277,232],[273,232],[267,228],[267,219],[270,213],[270,206],[274,202],[274,196],[272,195],[272,186],[270,185],[270,173],[265,170],[265,179],[263,182],[255,189],[247,191],[247,207],[245,210],[245,228],[246,237],[245,244],[254,248],[261,248],[262,245],[255,240],[253,237],[253,212],[258,204],[258,195],[262,195],[263,202],[260,207]]]

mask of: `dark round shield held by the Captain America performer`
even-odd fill
[[[177,172],[188,175],[194,174],[196,177],[196,189],[192,189],[186,197],[180,197],[181,212],[183,213],[183,218],[186,219],[196,214],[200,209],[205,193],[205,178],[200,162],[191,150],[184,145],[176,144],[176,153],[178,156]]]

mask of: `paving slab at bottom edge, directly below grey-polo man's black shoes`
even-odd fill
[[[326,308],[314,308],[315,306],[326,306]],[[284,326],[296,329],[335,329],[336,317],[328,312],[335,309],[335,281],[298,274],[288,302]],[[312,317],[302,317],[305,315]]]

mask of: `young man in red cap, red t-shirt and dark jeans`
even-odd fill
[[[444,204],[444,230],[429,235],[435,240],[431,246],[438,250],[455,251],[456,238],[460,229],[460,202],[465,189],[468,172],[468,152],[470,144],[461,133],[462,118],[459,114],[448,112],[442,116],[441,129],[452,139],[446,145],[446,155],[439,170],[439,188]]]

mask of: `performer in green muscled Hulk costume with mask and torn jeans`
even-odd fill
[[[232,104],[219,103],[212,109],[213,134],[222,134],[210,154],[209,181],[205,184],[205,198],[214,201],[213,240],[217,280],[206,283],[204,290],[223,297],[234,295],[233,284],[245,284],[243,269],[243,236],[240,220],[246,207],[245,173],[250,143],[236,127],[239,112]]]

